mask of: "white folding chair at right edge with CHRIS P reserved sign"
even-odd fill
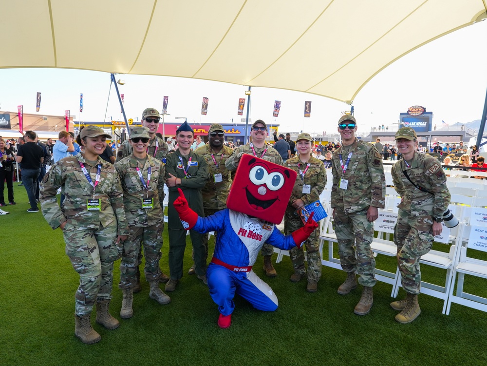
[[[463,245],[457,255],[453,269],[452,286],[448,297],[446,314],[450,314],[451,303],[460,304],[469,308],[487,312],[487,298],[474,295],[464,291],[465,275],[487,279],[487,261],[473,258],[469,255],[475,252],[487,252],[487,228],[483,226],[464,227],[463,238],[468,238],[467,244]],[[476,253],[475,253],[476,254]],[[454,284],[457,279],[457,289],[454,292]],[[484,288],[485,285],[482,287]]]

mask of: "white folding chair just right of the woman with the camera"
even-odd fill
[[[455,228],[449,229],[445,226],[445,224],[443,224],[443,231],[441,235],[436,236],[434,241],[438,243],[449,244],[451,233],[451,235],[455,238],[455,241],[450,246],[450,250],[448,252],[440,250],[430,250],[429,253],[421,256],[421,259],[419,260],[420,265],[427,265],[446,270],[444,284],[435,285],[426,281],[421,281],[420,289],[421,293],[443,300],[442,314],[445,314],[445,311],[447,309],[447,300],[453,278],[453,265],[457,256],[457,252],[461,247],[461,242],[458,242],[458,238],[461,237],[461,230],[463,225],[463,223],[460,223]],[[422,277],[424,277],[424,274],[422,274]],[[393,297],[397,296],[400,287],[402,287],[402,285],[401,274],[399,273],[399,276],[397,277],[397,283],[394,288]]]

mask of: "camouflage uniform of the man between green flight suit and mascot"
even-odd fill
[[[208,165],[209,179],[205,187],[201,190],[203,194],[203,210],[205,217],[215,214],[217,211],[226,209],[226,197],[230,192],[232,185],[232,173],[226,169],[225,160],[233,153],[228,146],[223,145],[222,150],[215,154],[210,144],[199,147],[194,151],[195,154],[201,155]],[[213,154],[213,157],[211,155]],[[213,158],[217,162],[213,161]],[[222,182],[215,183],[215,174],[222,174]],[[217,233],[215,232],[215,240]],[[203,245],[205,246],[205,258],[208,258],[208,235],[203,235]]]

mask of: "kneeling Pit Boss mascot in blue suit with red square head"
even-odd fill
[[[252,266],[264,243],[283,250],[300,248],[318,227],[312,213],[306,225],[291,235],[285,236],[276,228],[284,216],[296,176],[291,169],[244,154],[227,198],[227,209],[208,217],[192,211],[179,189],[174,208],[185,229],[218,232],[206,275],[211,298],[220,311],[219,327],[230,327],[235,293],[256,309],[277,309],[276,295],[252,271]]]

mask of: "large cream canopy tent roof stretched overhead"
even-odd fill
[[[380,70],[486,17],[486,0],[1,0],[1,68],[218,80],[351,103]],[[479,44],[484,44],[479,40]],[[8,51],[7,51],[8,50]]]

